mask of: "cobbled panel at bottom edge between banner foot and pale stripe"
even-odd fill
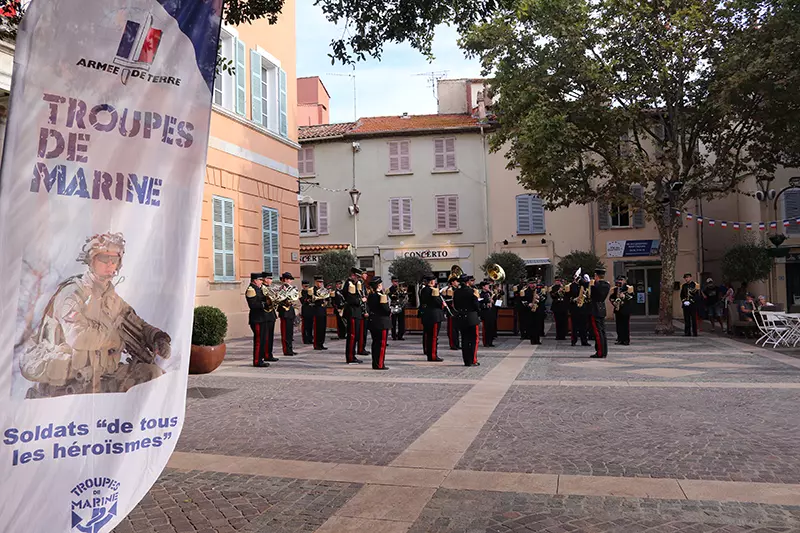
[[[113,533],[310,532],[360,488],[357,483],[167,470]]]

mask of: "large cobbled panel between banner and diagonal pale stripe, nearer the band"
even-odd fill
[[[178,450],[386,465],[469,385],[192,378]]]

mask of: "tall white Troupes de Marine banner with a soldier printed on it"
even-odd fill
[[[107,533],[183,425],[222,0],[35,0],[0,172],[0,531]]]

